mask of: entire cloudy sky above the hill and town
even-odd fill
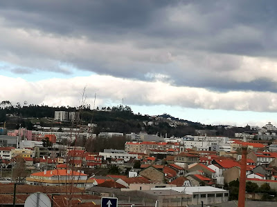
[[[0,0],[0,100],[277,126],[276,21],[274,0]]]

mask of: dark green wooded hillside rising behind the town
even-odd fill
[[[172,117],[168,114],[159,115],[163,117],[163,120],[155,120],[148,115],[141,115],[140,113],[134,114],[132,108],[129,106],[113,106],[111,108],[96,108],[96,110],[91,109],[90,105],[80,106],[78,108],[71,106],[45,106],[45,105],[33,105],[24,102],[23,106],[20,103],[11,103],[10,101],[1,101],[0,103],[0,122],[4,121],[10,129],[26,127],[28,130],[33,130],[33,118],[39,120],[41,126],[57,126],[56,122],[48,122],[45,117],[53,119],[55,111],[65,110],[68,112],[80,112],[80,125],[87,125],[89,123],[97,124],[94,128],[94,132],[98,134],[99,132],[147,132],[152,135],[162,135],[167,134],[168,137],[184,137],[185,135],[196,135],[195,130],[207,129],[216,130],[217,135],[223,135],[228,137],[233,137],[235,132],[244,132],[247,128],[235,127],[235,128],[224,128],[224,126],[211,126],[196,123],[193,121],[188,121],[184,119],[179,119]],[[11,119],[7,115],[13,115]],[[174,121],[181,121],[186,123],[186,125],[179,125],[172,127],[168,123],[167,119],[170,118]],[[46,121],[45,121],[46,120]],[[154,124],[148,125],[149,121],[154,121]],[[10,125],[9,125],[10,124]],[[70,127],[72,123],[62,122],[60,127]]]

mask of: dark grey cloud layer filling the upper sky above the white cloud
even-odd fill
[[[277,92],[276,16],[276,1],[0,1],[0,60],[19,74],[66,73],[67,64],[171,86]]]

